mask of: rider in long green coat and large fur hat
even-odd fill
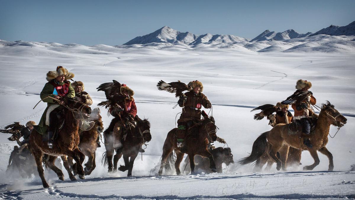
[[[53,148],[54,133],[60,120],[61,112],[64,109],[64,102],[61,101],[63,97],[75,97],[75,91],[68,80],[72,79],[74,74],[68,72],[62,66],[58,66],[56,71],[49,71],[47,73],[47,83],[44,85],[40,98],[43,102],[47,102],[47,108],[44,110],[42,118],[38,126],[35,126],[37,132],[44,134],[48,130],[49,148]],[[48,98],[51,97],[51,98]],[[55,101],[54,99],[58,101]]]

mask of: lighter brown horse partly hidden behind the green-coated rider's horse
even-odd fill
[[[88,157],[88,161],[84,164],[84,172],[85,175],[90,175],[91,172],[95,169],[95,157],[96,157],[96,149],[97,149],[97,139],[99,134],[103,132],[104,125],[101,121],[100,109],[95,108],[92,110],[90,114],[90,118],[88,121],[91,125],[89,130],[84,130],[80,133],[80,142],[78,147],[80,148],[81,152],[84,156]],[[92,126],[93,125],[93,126]],[[80,160],[83,162],[84,156],[80,156]],[[61,156],[64,168],[67,170],[69,177],[71,180],[76,180],[76,178],[72,175],[71,169],[74,168],[74,172],[76,173],[77,166],[74,166],[73,158],[66,156]]]

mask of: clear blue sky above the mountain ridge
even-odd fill
[[[0,39],[119,45],[169,26],[254,38],[355,21],[355,0],[0,0]]]

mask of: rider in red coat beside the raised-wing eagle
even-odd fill
[[[124,101],[118,103],[122,109],[117,113],[116,109],[111,107],[109,110],[113,117],[119,117],[120,120],[115,124],[113,129],[114,136],[114,148],[118,147],[116,152],[121,153],[122,151],[122,137],[126,134],[126,131],[130,128],[132,124],[135,124],[134,118],[137,115],[136,103],[133,99],[134,92],[127,85],[121,85],[121,93],[126,95]]]

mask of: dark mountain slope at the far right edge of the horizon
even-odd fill
[[[355,35],[355,21],[351,22],[347,26],[335,26],[331,25],[327,28],[323,28],[310,36],[315,36],[319,34],[326,34],[329,36],[354,36]]]

